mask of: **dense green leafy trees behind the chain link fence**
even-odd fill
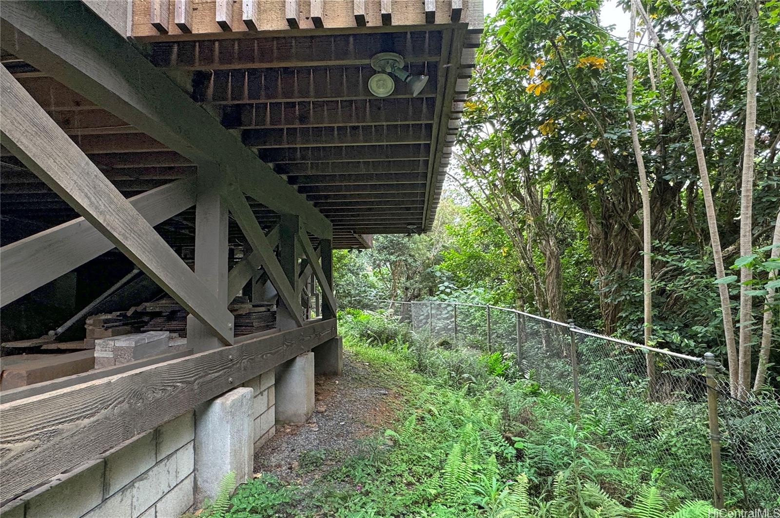
[[[627,35],[601,23],[601,3],[499,2],[477,50],[456,167],[434,228],[423,236],[375,236],[375,249],[362,254],[341,252],[342,300],[493,303],[642,340],[642,214],[626,116]],[[750,2],[647,3],[696,107],[725,264],[738,267]],[[756,257],[749,256],[756,351],[764,307],[778,313],[766,289],[778,264],[766,261],[780,209],[778,11],[776,0],[764,2],[759,24]],[[637,30],[633,109],[651,186],[652,342],[725,357],[690,128],[671,74],[647,45],[645,27]],[[729,282],[736,315],[738,279],[721,282]],[[770,332],[776,343],[780,318]],[[770,363],[768,383],[777,386],[777,347]]]

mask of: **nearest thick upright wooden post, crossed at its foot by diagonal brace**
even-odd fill
[[[195,275],[227,307],[228,293],[228,206],[220,196],[218,165],[200,165],[195,201]],[[192,315],[187,317],[187,346],[195,353],[217,349],[217,335]]]

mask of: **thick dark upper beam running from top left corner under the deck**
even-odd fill
[[[242,186],[254,184],[253,197],[268,208],[300,215],[314,235],[330,236],[324,216],[93,12],[68,2],[11,2],[0,18],[6,51],[190,161],[218,162]]]

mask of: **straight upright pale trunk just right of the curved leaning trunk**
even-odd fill
[[[742,160],[742,203],[739,210],[739,254],[753,253],[753,162],[756,151],[756,77],[758,75],[758,2],[750,6],[750,55],[747,66],[747,98],[745,105],[745,150]],[[753,297],[750,279],[753,270],[739,268],[739,397],[750,391],[750,331],[753,326]]]

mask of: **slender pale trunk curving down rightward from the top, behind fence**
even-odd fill
[[[685,107],[686,118],[688,119],[688,125],[690,126],[691,137],[693,138],[693,147],[696,150],[696,161],[699,168],[699,176],[701,180],[701,190],[704,194],[704,208],[707,212],[707,227],[710,230],[710,241],[712,244],[712,258],[715,263],[715,273],[718,275],[718,279],[725,277],[725,268],[723,266],[723,253],[721,250],[721,239],[718,234],[718,222],[715,215],[715,205],[712,199],[712,189],[710,186],[710,177],[707,172],[707,160],[704,157],[704,147],[701,144],[701,135],[699,133],[699,126],[696,122],[696,113],[693,112],[693,105],[688,95],[688,89],[683,82],[683,76],[680,76],[679,70],[675,65],[675,62],[669,56],[668,52],[664,48],[661,41],[658,39],[658,34],[653,29],[652,20],[650,16],[647,16],[642,3],[639,0],[632,0],[633,5],[636,5],[637,12],[640,13],[645,25],[647,26],[647,33],[650,37],[658,52],[663,56],[666,66],[669,72],[675,79],[675,85],[679,90],[679,95],[683,101]],[[725,283],[718,284],[718,294],[721,299],[721,313],[723,315],[723,334],[726,342],[726,353],[729,356],[729,381],[731,382],[732,396],[736,396],[739,387],[739,363],[736,351],[736,342],[734,340],[734,320],[732,317],[731,300],[729,299],[729,286]]]

